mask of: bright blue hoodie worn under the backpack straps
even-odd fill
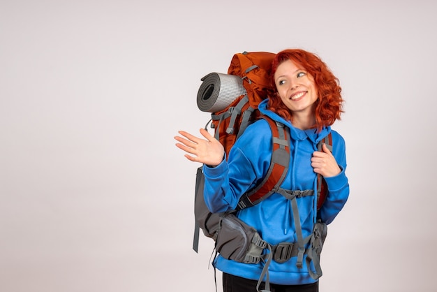
[[[281,188],[290,190],[313,189],[316,193],[317,175],[311,167],[311,156],[317,150],[317,143],[332,133],[332,148],[341,173],[325,178],[328,194],[320,209],[320,219],[329,224],[334,220],[349,195],[346,177],[346,149],[343,138],[329,126],[320,133],[316,129],[306,131],[296,129],[292,124],[276,113],[267,110],[267,100],[259,105],[260,112],[285,124],[290,129],[290,166]],[[255,187],[265,176],[272,156],[272,131],[269,124],[260,119],[247,127],[243,135],[230,150],[228,159],[224,159],[215,168],[203,167],[205,175],[205,203],[211,212],[234,210],[239,198]],[[316,222],[316,196],[297,199],[300,223],[304,238],[313,231]],[[279,242],[297,242],[295,224],[290,200],[281,194],[272,194],[258,205],[240,210],[237,217],[253,226],[263,240],[269,244]],[[263,263],[238,263],[222,256],[214,260],[214,266],[231,275],[258,280]],[[272,261],[269,265],[270,282],[281,285],[311,284],[315,282],[309,275],[306,263],[296,267],[296,257],[286,263]]]

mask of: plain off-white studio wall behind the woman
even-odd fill
[[[173,137],[236,52],[320,55],[346,99],[350,200],[321,291],[436,291],[437,6],[0,2],[0,291],[215,291]],[[217,273],[218,291],[221,274]]]

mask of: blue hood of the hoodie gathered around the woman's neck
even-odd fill
[[[290,129],[290,136],[293,140],[305,140],[309,138],[313,143],[317,144],[320,140],[325,138],[327,134],[331,131],[330,126],[324,126],[322,131],[318,132],[317,129],[308,129],[308,130],[301,130],[295,128],[290,121],[287,121],[280,115],[276,114],[276,112],[272,112],[272,110],[267,109],[267,103],[268,98],[265,99],[258,105],[258,109],[263,115],[267,115],[268,117],[271,117],[276,122],[281,122],[282,124],[285,124]]]

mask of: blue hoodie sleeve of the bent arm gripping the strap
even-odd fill
[[[334,177],[326,177],[328,194],[319,210],[319,217],[326,224],[331,223],[337,214],[343,209],[349,196],[349,182],[346,177],[346,144],[336,131],[332,131],[333,152],[336,162],[341,168],[341,173]]]

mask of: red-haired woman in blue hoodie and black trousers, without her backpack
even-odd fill
[[[339,214],[349,195],[346,150],[343,138],[330,126],[342,112],[341,87],[326,64],[304,50],[283,50],[272,62],[274,94],[260,103],[262,114],[285,124],[291,137],[290,167],[281,188],[316,191],[317,175],[327,182],[327,198],[317,212],[316,196],[298,198],[299,219],[304,238],[311,235],[317,219],[326,224]],[[332,133],[332,152],[316,145]],[[249,126],[225,159],[223,146],[205,129],[198,138],[185,131],[175,139],[186,158],[203,163],[205,203],[212,212],[234,210],[239,198],[260,182],[269,168],[272,132],[264,119]],[[253,226],[269,244],[296,242],[290,200],[273,194],[258,205],[240,210],[237,217]],[[318,291],[318,280],[297,259],[272,261],[269,282],[272,291]],[[225,292],[254,292],[263,264],[237,263],[218,256],[214,266],[223,272]]]

